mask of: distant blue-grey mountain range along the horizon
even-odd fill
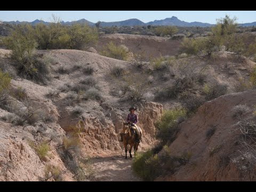
[[[21,24],[21,23],[30,23],[31,25],[36,25],[37,23],[44,23],[45,25],[49,25],[51,22],[45,22],[43,20],[38,20],[36,19],[35,21],[28,22],[28,21],[5,21],[4,23],[10,23],[10,24]],[[90,26],[94,26],[95,23],[90,22],[86,19],[80,19],[77,21],[61,21],[63,25],[73,25],[74,23],[87,23]],[[140,21],[139,19],[128,19],[124,21],[115,21],[115,22],[100,22],[100,27],[111,27],[111,26],[147,26],[147,25],[154,25],[154,26],[178,26],[178,27],[211,27],[213,24],[210,23],[203,23],[203,22],[186,22],[186,21],[181,21],[177,17],[171,17],[171,18],[166,18],[162,20],[155,20],[155,21],[150,21],[147,23],[144,23]],[[243,24],[238,24],[239,26],[256,26],[256,22],[252,23],[243,23]]]

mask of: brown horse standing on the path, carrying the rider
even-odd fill
[[[127,123],[123,122],[123,143],[125,148],[125,158],[127,158],[127,145],[130,145],[129,153],[130,157],[132,158],[132,147],[134,150],[134,155],[136,154],[136,151],[138,150],[139,142],[136,142],[136,135],[131,130],[131,126]]]

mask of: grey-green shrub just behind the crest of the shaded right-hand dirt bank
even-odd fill
[[[221,95],[227,94],[228,86],[226,84],[220,84],[215,82],[213,84],[205,84],[203,92],[205,93],[205,99],[207,101],[220,97]]]

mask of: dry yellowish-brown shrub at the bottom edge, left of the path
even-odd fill
[[[54,179],[54,181],[62,181],[63,178],[61,176],[61,169],[59,166],[53,166],[50,164],[47,164],[44,169],[44,181],[49,181],[51,178]]]

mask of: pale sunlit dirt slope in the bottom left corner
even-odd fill
[[[33,149],[0,125],[0,181],[37,181],[43,177],[44,164]]]

